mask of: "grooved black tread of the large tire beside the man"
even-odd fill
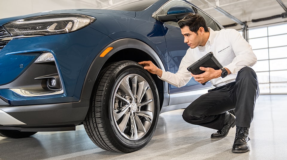
[[[105,68],[100,74],[100,81],[97,81],[93,91],[92,103],[86,119],[84,121],[84,127],[90,139],[100,148],[115,152],[128,153],[129,150],[118,149],[118,146],[110,138],[109,132],[107,131],[106,124],[104,122],[103,114],[105,101],[104,95],[106,94],[106,88],[108,87],[109,81],[112,79],[116,70],[119,70],[124,65],[133,63],[132,61],[116,62],[109,67]],[[96,93],[95,93],[96,92]]]

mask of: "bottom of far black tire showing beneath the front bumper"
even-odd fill
[[[30,137],[37,132],[21,132],[18,130],[4,130],[0,129],[0,136],[7,137],[7,138],[25,138]]]

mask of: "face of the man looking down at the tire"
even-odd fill
[[[180,30],[181,34],[184,36],[184,43],[187,43],[190,48],[196,48],[197,46],[201,45],[202,40],[200,34],[197,35],[196,33],[191,32],[188,26],[184,26]]]

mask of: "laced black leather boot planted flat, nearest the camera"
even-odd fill
[[[243,153],[250,150],[249,128],[237,127],[232,152]]]

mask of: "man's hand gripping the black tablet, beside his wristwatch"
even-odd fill
[[[191,76],[194,77],[194,79],[196,81],[198,81],[199,83],[204,83],[204,82],[207,82],[211,79],[215,79],[215,78],[218,78],[221,76],[221,73],[222,71],[219,69],[219,70],[214,70],[213,68],[204,68],[204,67],[200,67],[199,68],[200,70],[205,70],[204,73],[201,73],[201,74],[198,74],[198,75],[195,75],[195,74],[192,74],[191,73]]]

